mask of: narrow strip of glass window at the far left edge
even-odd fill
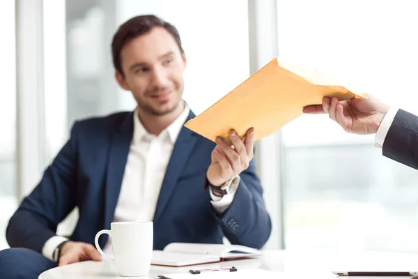
[[[7,248],[6,226],[16,198],[15,1],[0,2],[0,250]]]

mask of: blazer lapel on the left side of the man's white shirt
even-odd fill
[[[121,123],[121,127],[111,136],[104,197],[104,228],[106,229],[109,229],[110,223],[113,222],[133,130],[133,113],[130,113]],[[104,237],[100,239],[104,239]]]

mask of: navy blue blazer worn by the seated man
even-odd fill
[[[187,120],[192,119],[191,112]],[[121,190],[133,135],[133,112],[74,123],[70,140],[45,170],[42,180],[10,218],[10,247],[41,252],[57,225],[75,208],[79,220],[72,241],[94,245],[100,229],[110,229]],[[183,128],[167,166],[154,216],[154,246],[171,242],[231,243],[261,248],[271,232],[263,189],[251,161],[240,174],[233,203],[222,216],[204,189],[210,153],[215,143]],[[107,236],[100,237],[100,246]]]

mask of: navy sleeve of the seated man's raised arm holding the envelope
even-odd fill
[[[263,188],[256,175],[254,160],[240,174],[240,185],[229,208],[222,216],[217,215],[215,209],[212,214],[232,244],[259,249],[268,241],[272,224],[265,209]]]

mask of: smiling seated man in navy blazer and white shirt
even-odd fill
[[[111,44],[116,80],[134,112],[77,121],[70,140],[24,199],[0,252],[5,278],[36,278],[57,264],[100,260],[95,234],[111,222],[153,220],[155,250],[171,242],[261,248],[271,232],[254,164],[254,130],[233,147],[183,127],[194,114],[182,100],[186,66],[175,27],[153,16],[125,22]],[[196,92],[198,93],[198,92]],[[56,227],[75,208],[70,239]],[[106,246],[107,237],[100,238]]]

